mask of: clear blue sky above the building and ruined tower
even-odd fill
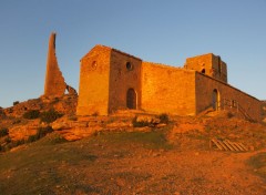
[[[43,94],[52,31],[76,90],[80,59],[104,44],[176,66],[212,52],[232,85],[266,99],[266,0],[1,0],[0,106]]]

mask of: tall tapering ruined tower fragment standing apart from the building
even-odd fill
[[[66,89],[64,78],[59,69],[57,60],[55,35],[57,34],[52,32],[49,40],[44,96],[62,96]]]

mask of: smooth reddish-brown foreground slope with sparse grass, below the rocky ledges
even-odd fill
[[[208,147],[193,133],[102,132],[65,142],[52,133],[0,155],[2,194],[257,194],[266,193],[266,150]],[[182,136],[182,137],[181,137]],[[260,158],[258,157],[260,155]]]

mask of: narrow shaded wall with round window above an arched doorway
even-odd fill
[[[112,50],[110,62],[109,113],[126,109],[126,93],[136,93],[136,109],[141,103],[141,59]]]

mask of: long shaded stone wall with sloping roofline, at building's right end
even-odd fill
[[[224,82],[196,72],[196,113],[213,106],[213,92],[217,90],[219,107],[237,111],[237,103],[255,121],[260,121],[260,101]],[[224,102],[225,101],[225,102]],[[225,105],[225,103],[227,105]],[[228,105],[229,104],[229,105]],[[235,105],[233,105],[235,104]],[[231,106],[232,105],[232,106]],[[241,107],[239,107],[241,109]],[[241,111],[239,111],[241,112]]]

